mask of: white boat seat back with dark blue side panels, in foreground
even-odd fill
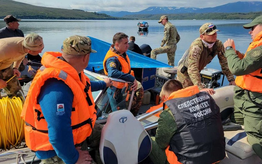
[[[99,146],[103,164],[137,164],[150,154],[151,149],[148,133],[129,110],[109,114]]]

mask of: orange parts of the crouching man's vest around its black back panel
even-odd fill
[[[184,89],[180,89],[178,91],[175,91],[173,93],[170,94],[170,96],[168,97],[168,100],[171,100],[173,98],[179,98],[179,97],[190,97],[193,96],[195,94],[199,93],[199,89],[197,87],[197,85],[194,86],[190,86]],[[167,108],[167,106],[165,106],[165,109]],[[166,148],[166,156],[167,156],[167,161],[170,164],[181,164],[180,162],[177,161],[177,157],[175,155],[174,152],[169,151],[169,145]]]

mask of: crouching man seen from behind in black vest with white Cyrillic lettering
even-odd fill
[[[220,109],[197,85],[178,80],[163,85],[166,110],[160,114],[150,159],[155,164],[212,164],[225,158]]]

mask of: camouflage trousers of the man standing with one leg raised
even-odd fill
[[[174,64],[174,62],[175,62],[175,50],[176,50],[176,44],[159,47],[159,48],[156,48],[156,49],[151,51],[151,58],[156,59],[156,55],[167,53],[168,65],[174,66],[175,65]]]

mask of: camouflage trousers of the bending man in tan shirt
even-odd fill
[[[0,78],[4,81],[9,80],[13,75],[13,65],[10,67],[0,70]],[[15,76],[11,79],[5,88],[3,88],[8,95],[8,97],[16,96],[16,92],[21,89],[21,85],[19,84],[18,78]],[[1,98],[1,95],[0,95]]]

